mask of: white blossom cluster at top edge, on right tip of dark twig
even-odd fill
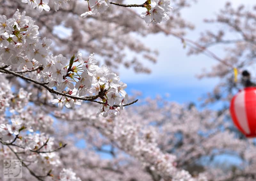
[[[161,23],[162,20],[169,20],[168,14],[172,9],[170,0],[149,0],[149,2],[146,5],[147,11],[142,12],[140,15],[146,23]]]

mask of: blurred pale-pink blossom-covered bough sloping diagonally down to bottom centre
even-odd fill
[[[114,142],[117,148],[137,158],[145,167],[166,178],[166,180],[168,178],[175,181],[181,179],[196,180],[188,171],[176,168],[176,156],[161,151],[156,142],[158,134],[156,128],[144,125],[140,115],[133,115],[131,112],[125,111],[114,119],[99,119],[92,114],[93,109],[93,107],[83,105],[79,109],[70,110],[68,113],[56,111],[55,116],[72,123],[83,122],[83,129],[87,126],[97,128],[102,135]],[[76,118],[74,119],[74,117]],[[95,134],[93,136],[96,137]],[[198,180],[205,181],[206,178],[204,175],[200,175]]]

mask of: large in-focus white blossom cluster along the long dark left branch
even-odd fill
[[[18,10],[11,19],[1,15],[0,65],[26,74],[52,91],[54,88],[53,93],[65,93],[52,100],[61,108],[64,105],[73,108],[81,105],[82,98],[101,98],[103,102],[98,115],[113,117],[123,109],[127,102],[124,91],[127,85],[108,67],[99,67],[94,54],[86,60],[79,51],[70,60],[61,54],[53,56],[50,54],[52,41],[45,37],[40,41],[38,35],[38,26],[34,25],[31,17],[25,16],[25,12]],[[40,82],[42,80],[44,82]]]

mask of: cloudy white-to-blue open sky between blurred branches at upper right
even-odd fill
[[[217,28],[219,25],[208,25],[203,23],[204,18],[214,18],[220,8],[224,7],[223,0],[198,0],[198,3],[182,11],[182,16],[195,25],[195,30],[188,32],[187,37],[196,40],[205,29]],[[254,1],[255,2],[255,1]],[[132,3],[129,1],[129,3]],[[232,4],[237,6],[245,4],[245,8],[253,5],[253,0],[233,0]],[[141,9],[137,10],[138,12]],[[142,42],[150,45],[152,49],[159,51],[156,64],[145,61],[151,69],[150,75],[136,74],[131,69],[121,68],[120,78],[128,84],[127,92],[140,90],[145,96],[155,97],[156,94],[170,94],[169,100],[179,103],[196,102],[199,97],[211,91],[218,79],[197,79],[203,68],[210,70],[211,66],[218,63],[205,55],[187,56],[188,48],[183,49],[180,40],[165,36],[164,34],[149,35],[140,38]],[[223,53],[220,48],[213,51],[221,57]],[[141,59],[143,62],[143,59]]]

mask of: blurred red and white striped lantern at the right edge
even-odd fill
[[[232,98],[230,114],[246,137],[256,137],[256,87],[246,87]]]

